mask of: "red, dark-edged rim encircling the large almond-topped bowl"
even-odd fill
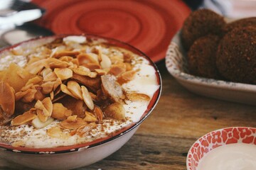
[[[89,149],[92,147],[98,147],[100,145],[103,145],[107,142],[111,142],[112,140],[116,140],[119,137],[122,137],[126,135],[128,132],[134,130],[137,128],[149,115],[150,113],[154,110],[156,107],[156,104],[159,101],[159,98],[161,96],[161,91],[162,91],[162,80],[161,80],[161,74],[159,72],[159,69],[156,67],[156,64],[141,50],[137,49],[136,47],[129,45],[127,42],[122,42],[120,40],[116,40],[114,38],[107,38],[101,35],[95,35],[95,34],[60,34],[60,35],[50,35],[50,36],[39,36],[37,38],[32,38],[29,40],[25,40],[22,42],[18,42],[14,45],[11,45],[9,47],[4,47],[3,49],[0,50],[0,55],[1,53],[5,51],[9,51],[13,49],[14,47],[18,47],[19,45],[26,44],[28,42],[33,42],[36,40],[43,40],[43,39],[48,39],[48,38],[65,38],[67,36],[85,36],[90,37],[90,38],[96,38],[96,39],[102,39],[102,40],[107,40],[107,43],[110,43],[110,45],[116,45],[117,47],[123,47],[124,49],[131,50],[132,52],[136,53],[137,55],[144,57],[147,61],[149,61],[149,64],[154,67],[155,69],[155,74],[156,74],[156,80],[157,84],[159,85],[159,89],[157,89],[154,93],[154,95],[151,98],[151,101],[149,102],[146,111],[142,114],[141,118],[139,119],[138,122],[134,122],[130,125],[127,125],[126,127],[117,130],[117,132],[113,132],[111,136],[107,137],[102,137],[97,140],[92,140],[92,142],[85,142],[81,143],[78,145],[68,145],[68,146],[62,146],[62,147],[51,147],[51,148],[34,148],[34,147],[12,147],[11,145],[7,145],[4,143],[0,142],[0,150],[8,151],[8,152],[16,152],[16,153],[22,153],[22,154],[64,154],[68,152],[79,152],[81,149]]]

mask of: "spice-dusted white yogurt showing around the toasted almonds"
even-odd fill
[[[67,37],[63,40],[66,45],[72,44],[73,48],[78,47],[78,49],[74,49],[74,51],[80,50],[80,48],[82,48],[80,43],[86,42],[86,38],[78,36]],[[97,44],[97,42],[95,43]],[[41,43],[41,45],[44,44]],[[111,56],[121,54],[120,51],[113,50],[111,48],[109,49],[100,45],[96,47],[101,48],[102,52],[106,55]],[[65,49],[63,46],[62,48]],[[0,55],[2,57],[0,60],[0,69],[6,68],[6,63],[9,64],[11,61],[16,61],[16,64],[19,64],[21,67],[23,67],[24,62],[26,62],[26,57],[29,58],[31,55],[35,57],[37,53],[41,54],[43,50],[44,48],[40,45],[37,45],[30,51],[26,45],[23,48],[16,47],[14,52],[5,54],[5,56]],[[58,47],[56,47],[55,50],[58,50]],[[91,48],[86,47],[86,49],[83,50],[90,52]],[[13,55],[13,53],[16,55]],[[26,54],[26,57],[22,56],[22,54]],[[48,53],[46,55],[51,56],[52,54]],[[137,71],[137,73],[132,81],[129,81],[126,84],[122,84],[123,91],[128,93],[136,92],[139,94],[146,94],[152,98],[157,89],[159,89],[156,78],[156,70],[151,66],[148,60],[140,56],[137,56],[132,60],[132,66],[133,69]],[[68,138],[49,137],[47,135],[47,130],[58,126],[60,123],[59,120],[54,120],[53,123],[41,129],[33,128],[31,125],[0,126],[0,142],[5,142],[7,144],[14,144],[18,142],[19,144],[22,143],[24,147],[34,148],[60,147],[77,145],[84,142],[92,142],[93,140],[99,139],[101,137],[111,136],[112,133],[125,128],[132,123],[137,123],[146,111],[148,105],[149,101],[125,101],[123,106],[126,111],[126,120],[121,121],[108,118],[104,119],[102,123],[97,124],[95,128],[90,130],[90,132],[88,132],[86,135],[83,135],[82,137],[80,135],[73,135]]]

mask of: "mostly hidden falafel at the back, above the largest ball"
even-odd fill
[[[247,26],[256,27],[256,17],[242,18],[237,21],[227,23],[227,25],[224,27],[224,32],[228,33],[230,32],[230,30],[233,30],[234,28],[243,28]]]

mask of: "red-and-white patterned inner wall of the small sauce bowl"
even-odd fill
[[[200,159],[210,150],[233,143],[256,145],[256,128],[223,128],[200,137],[188,151],[186,159],[187,169],[196,170]]]

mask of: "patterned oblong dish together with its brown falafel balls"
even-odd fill
[[[256,105],[256,17],[193,11],[171,40],[166,67],[196,94]]]

